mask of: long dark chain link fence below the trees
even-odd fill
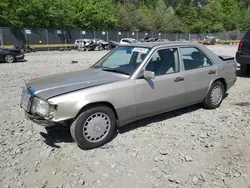
[[[122,38],[145,37],[179,40],[203,40],[205,36],[215,36],[221,40],[241,40],[244,32],[221,32],[221,33],[158,33],[142,31],[86,31],[86,30],[62,30],[62,29],[34,29],[34,28],[0,28],[0,45],[40,45],[48,48],[60,44],[74,44],[77,39],[99,38],[106,41],[120,41]]]

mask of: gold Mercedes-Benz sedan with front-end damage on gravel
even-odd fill
[[[21,107],[43,131],[68,126],[92,149],[138,119],[197,103],[215,109],[235,81],[234,57],[198,43],[121,44],[88,69],[27,81]]]

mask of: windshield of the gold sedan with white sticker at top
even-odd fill
[[[120,46],[104,56],[92,68],[117,74],[132,75],[149,53],[150,48]]]

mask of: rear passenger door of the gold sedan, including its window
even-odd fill
[[[185,105],[203,100],[216,77],[217,66],[197,47],[180,47],[184,65]]]

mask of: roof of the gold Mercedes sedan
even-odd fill
[[[198,46],[198,45],[200,44],[194,42],[181,42],[181,41],[120,44],[120,46],[133,46],[133,47],[144,47],[144,48],[168,47],[168,46]]]

